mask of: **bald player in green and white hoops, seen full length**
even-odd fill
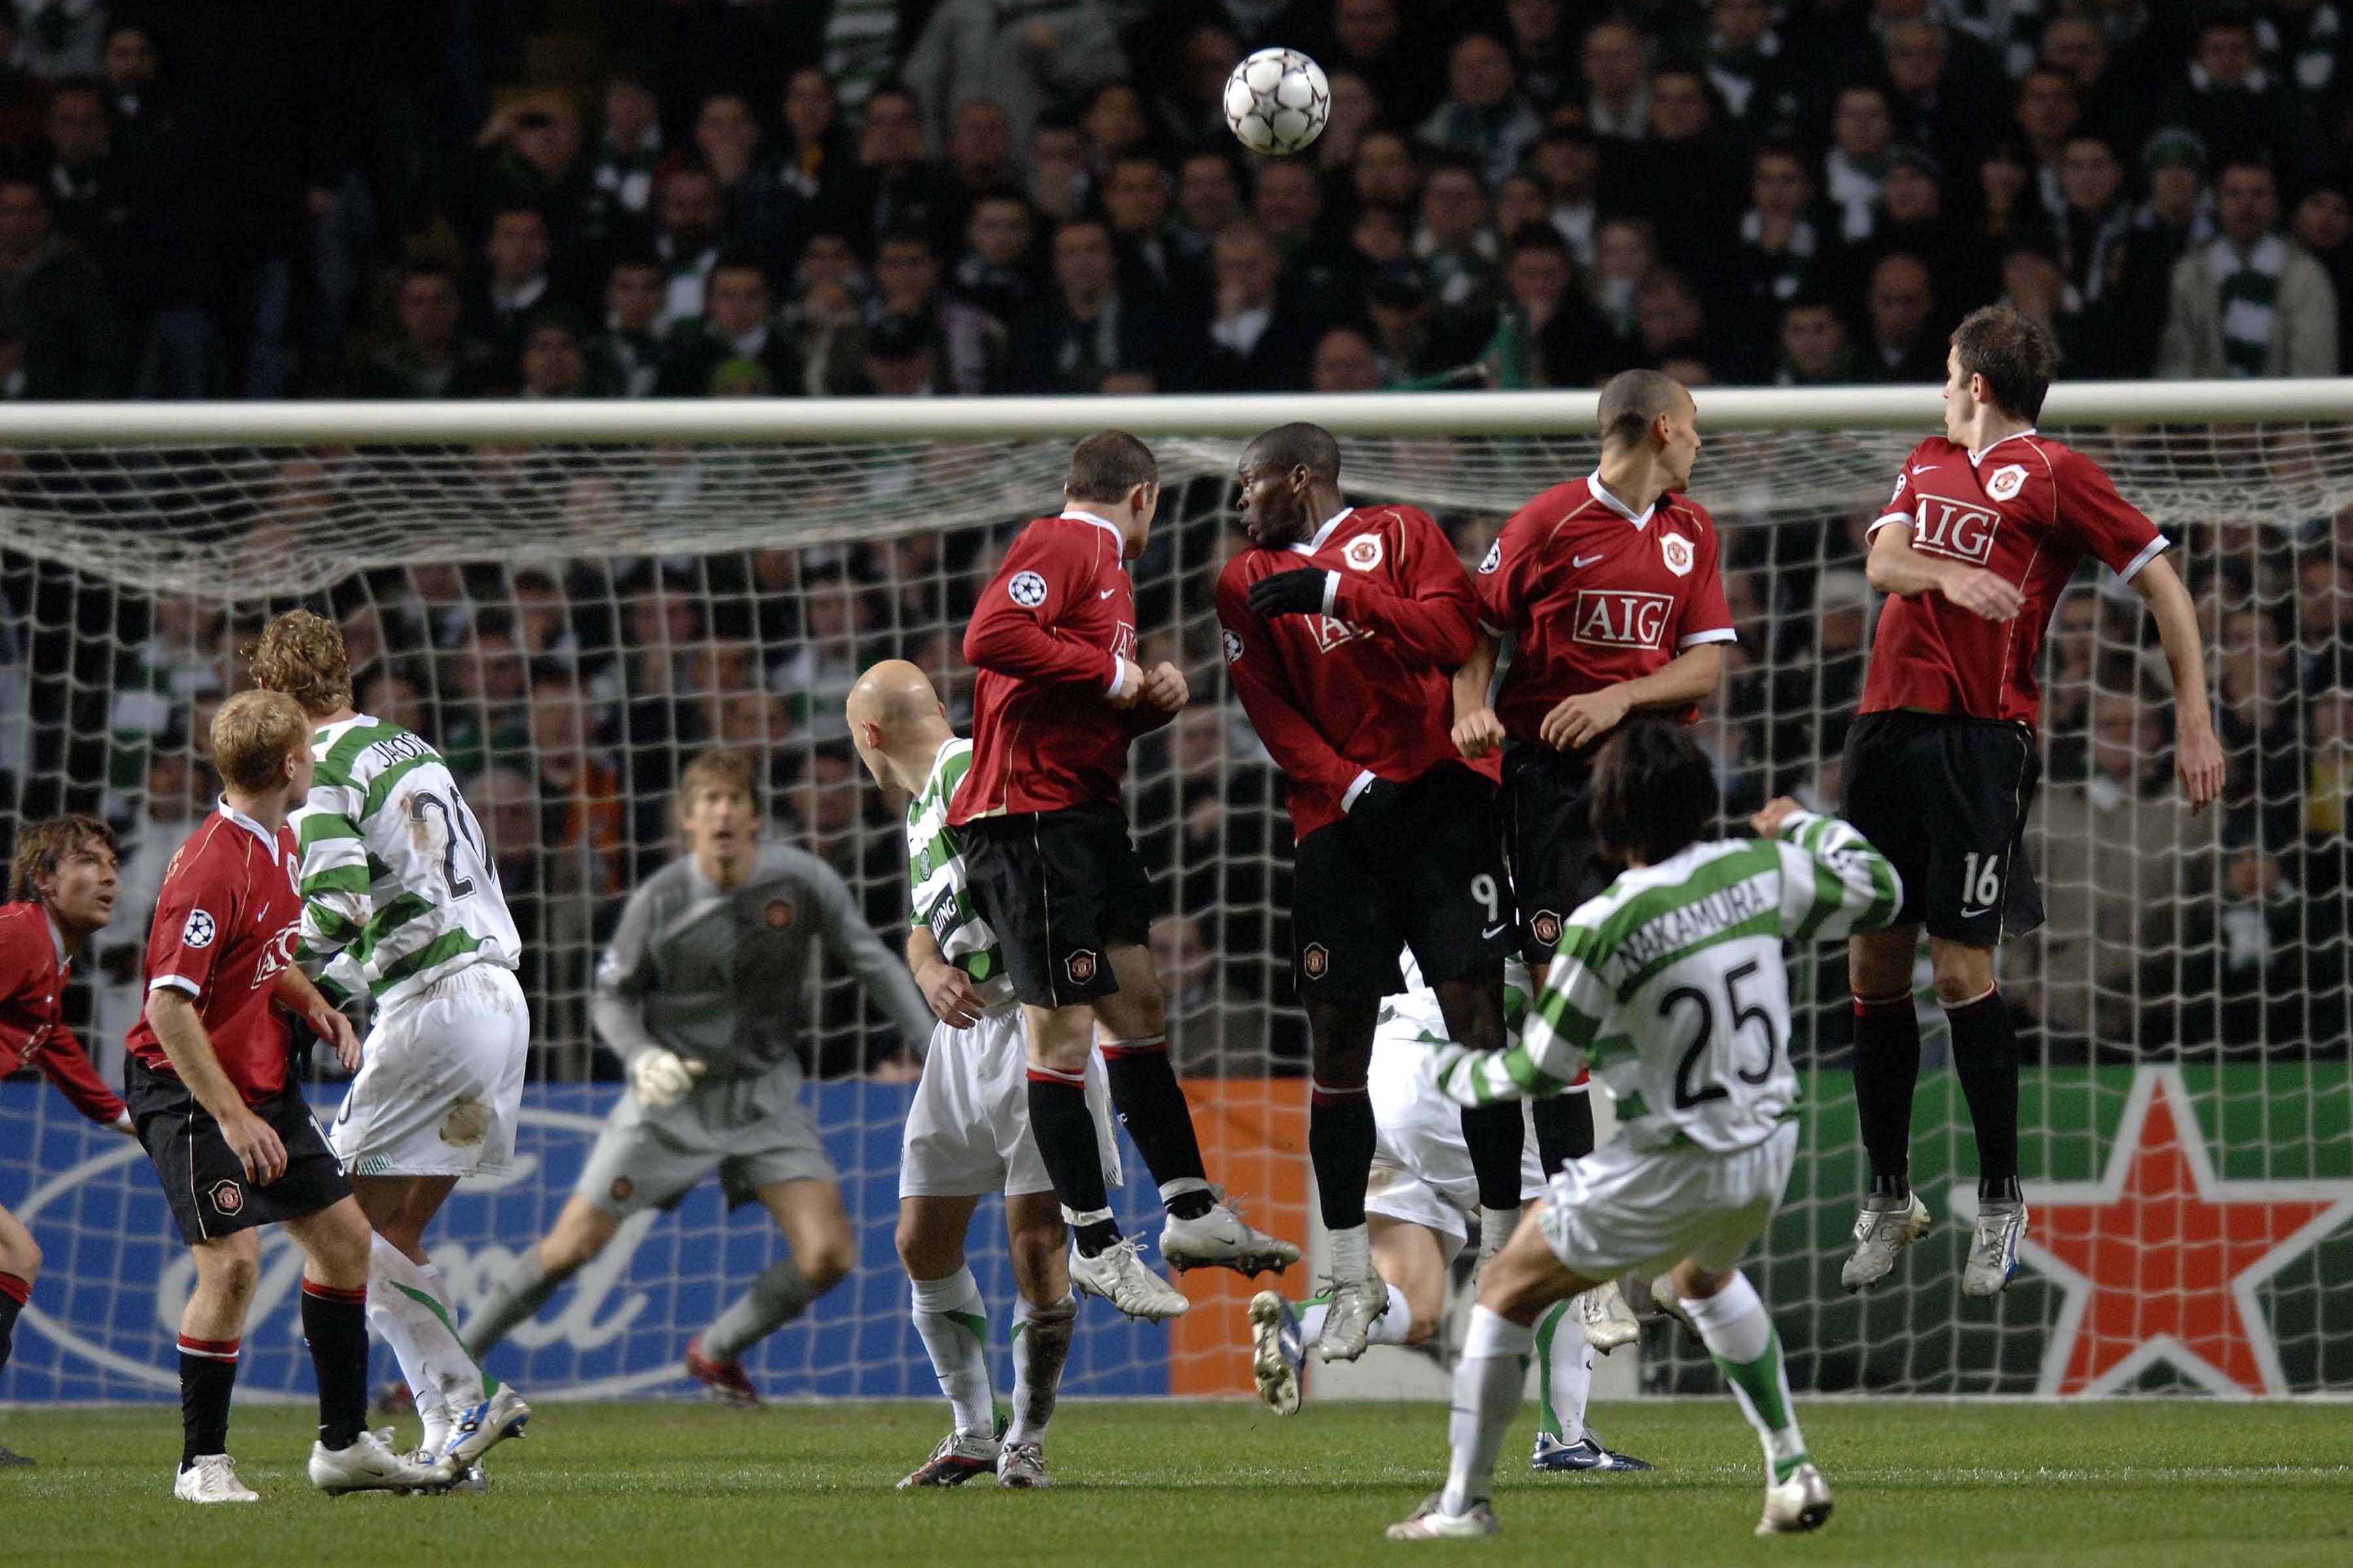
[[[1021,1006],[998,936],[972,907],[965,851],[948,827],[948,802],[972,766],[972,743],[948,729],[925,672],[896,658],[852,686],[849,738],[873,780],[908,797],[906,884],[915,917],[906,964],[939,1016],[899,1147],[899,1260],[913,1286],[915,1333],[955,1410],[955,1429],[899,1486],[962,1486],[991,1472],[998,1486],[1052,1486],[1045,1429],[1078,1298],[1054,1180],[1028,1133]],[[1111,1157],[1111,1100],[1092,1058],[1087,1103]],[[1104,1180],[1115,1185],[1118,1168],[1106,1168]],[[1012,1425],[988,1382],[988,1302],[965,1262],[972,1211],[988,1192],[1005,1194],[1014,1267]]]

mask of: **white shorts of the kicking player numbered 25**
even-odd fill
[[[1633,1150],[1612,1138],[1553,1175],[1539,1211],[1544,1239],[1586,1279],[1647,1276],[1685,1258],[1722,1274],[1765,1234],[1795,1161],[1795,1121],[1732,1154]]]

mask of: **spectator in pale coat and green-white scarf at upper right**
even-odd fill
[[[2278,223],[2271,169],[2226,162],[2214,181],[2221,233],[2174,263],[2160,376],[2337,374],[2337,292]]]

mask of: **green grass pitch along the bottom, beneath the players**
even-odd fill
[[[2247,1403],[1812,1403],[1838,1493],[1809,1537],[1753,1540],[1758,1443],[1729,1399],[1598,1406],[1647,1476],[1537,1476],[1532,1410],[1482,1542],[1395,1544],[1445,1467],[1445,1408],[1071,1403],[1052,1493],[894,1493],[939,1403],[544,1406],[492,1455],[489,1495],[322,1497],[311,1427],[240,1408],[259,1505],[169,1493],[176,1410],[0,1410],[5,1563],[2353,1563],[2353,1408]]]

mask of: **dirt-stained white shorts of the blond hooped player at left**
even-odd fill
[[[376,1013],[327,1143],[351,1175],[496,1175],[529,1046],[515,971],[468,964]]]

